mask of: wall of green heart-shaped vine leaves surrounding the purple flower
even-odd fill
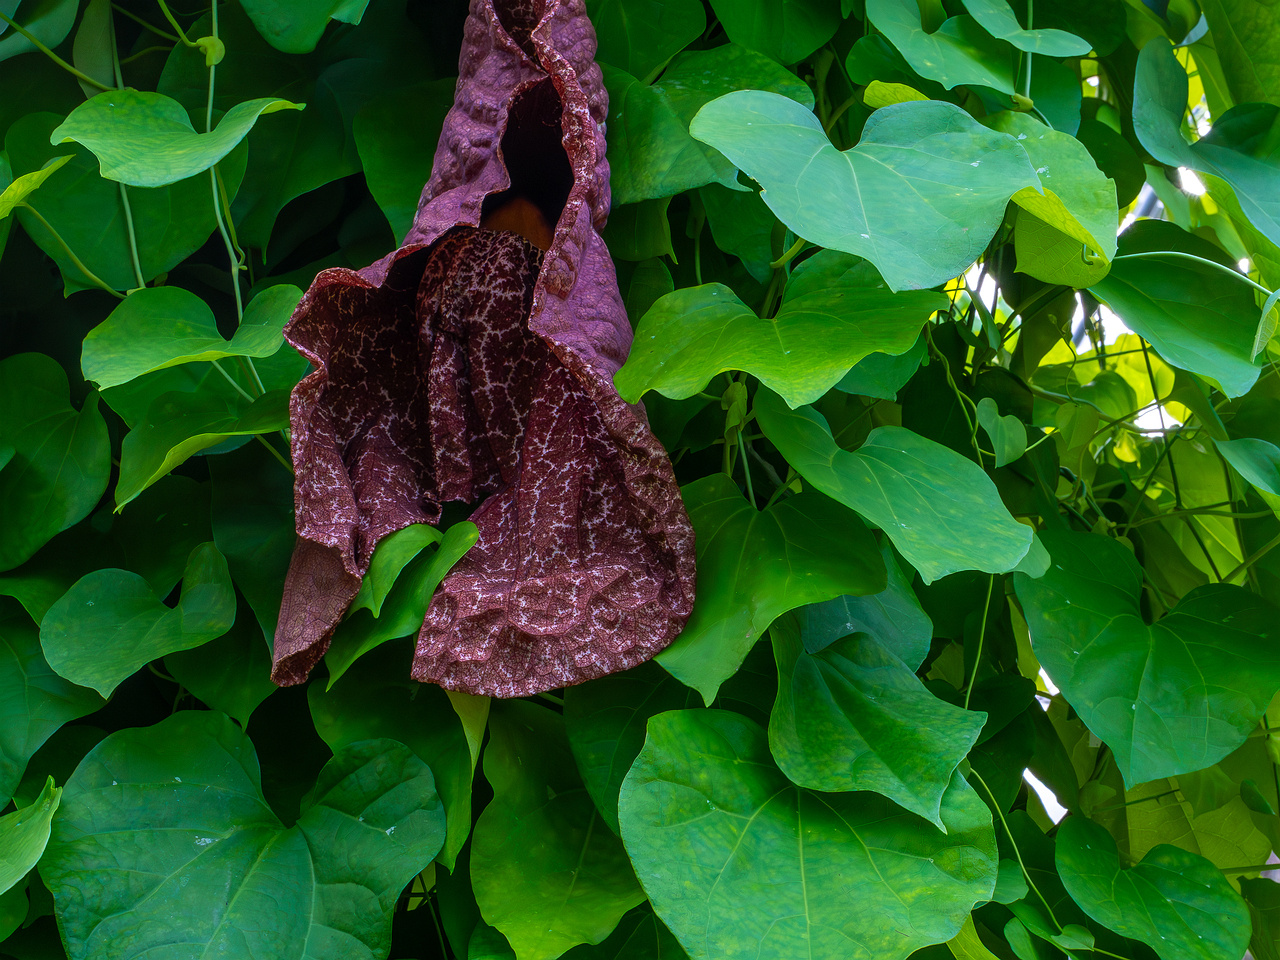
[[[280,330],[462,0],[0,4],[0,957],[1280,956],[1280,14],[589,0],[676,643],[276,691]]]

